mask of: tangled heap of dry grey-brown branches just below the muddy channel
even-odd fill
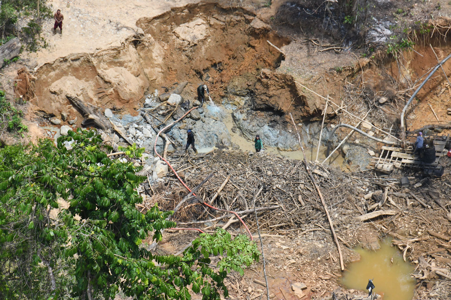
[[[214,176],[203,184],[196,193],[203,201],[222,210],[240,212],[246,217],[250,228],[256,230],[253,214],[253,198],[258,190],[262,192],[255,199],[260,226],[266,230],[293,231],[307,224],[323,223],[327,220],[318,194],[308,179],[301,161],[274,157],[265,153],[249,155],[244,152],[214,151],[201,157],[190,157],[185,163],[181,157],[176,164],[190,187],[197,186],[207,175]],[[188,167],[186,167],[188,165]],[[185,170],[184,170],[185,169]],[[345,201],[352,199],[354,193],[350,184],[341,184],[341,175],[330,167],[316,165],[313,168],[321,185],[325,201],[334,211]],[[184,174],[183,174],[184,173]],[[224,185],[225,184],[225,185]],[[217,193],[223,185],[222,191]],[[176,179],[160,186],[159,193],[165,191],[166,197],[157,199],[156,194],[148,201],[159,201],[163,209],[173,210],[186,196],[186,189]],[[162,203],[160,201],[163,201]],[[351,201],[347,201],[351,202]],[[196,225],[226,221],[230,213],[207,210],[196,199],[185,203],[174,215],[178,224]],[[232,219],[232,222],[234,220]],[[237,220],[235,220],[236,222]]]

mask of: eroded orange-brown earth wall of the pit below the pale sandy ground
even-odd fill
[[[276,71],[283,57],[267,40],[277,47],[290,40],[251,11],[189,4],[141,18],[137,26],[142,31],[120,47],[44,64],[35,73],[32,103],[55,116],[77,116],[65,97],[69,94],[133,115],[148,90],[161,94],[189,81],[185,99],[194,100],[197,86],[206,82],[216,102],[247,96],[254,110],[283,113],[294,108],[295,119],[316,109],[305,105],[290,75]]]

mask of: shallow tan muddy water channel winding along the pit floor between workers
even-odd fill
[[[249,139],[241,136],[238,131],[233,132],[232,127],[235,125],[235,122],[232,119],[233,110],[232,109],[228,109],[228,110],[224,109],[224,110],[226,111],[226,113],[225,113],[225,118],[222,121],[224,122],[224,124],[226,124],[227,130],[229,130],[232,143],[239,145],[239,148],[242,151],[255,152],[254,142],[252,140],[249,140]],[[304,159],[304,155],[302,154],[301,150],[281,151],[281,150],[277,149],[276,147],[265,146],[264,137],[261,137],[261,138],[263,141],[262,152],[268,152],[268,153],[271,153],[271,154],[274,154],[274,155],[277,155],[280,157],[289,158],[289,159],[298,159],[298,160]],[[304,150],[305,150],[305,155],[306,155],[307,161],[314,161],[316,159],[317,147],[308,148],[308,149],[304,149]],[[323,161],[324,159],[326,159],[326,157],[327,157],[326,154],[327,154],[327,147],[320,146],[319,154],[318,154],[318,161]],[[332,155],[332,157],[330,158],[330,160],[328,162],[332,166],[342,167],[344,158],[340,155],[340,153],[336,152],[336,153],[334,153],[334,155]]]

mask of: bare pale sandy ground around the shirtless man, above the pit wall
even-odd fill
[[[53,19],[43,24],[42,36],[48,43],[36,53],[24,52],[28,66],[37,69],[44,63],[74,53],[95,53],[101,49],[119,46],[133,35],[142,17],[155,17],[171,7],[183,6],[196,0],[51,0],[49,4],[64,15],[63,36],[59,29],[53,35]],[[114,8],[114,9],[112,9]]]

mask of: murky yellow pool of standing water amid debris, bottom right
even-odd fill
[[[341,283],[355,290],[365,290],[368,279],[373,279],[373,292],[383,295],[384,300],[412,300],[415,279],[410,276],[414,267],[405,262],[390,239],[382,242],[381,248],[370,251],[355,249],[360,260],[349,264]],[[368,291],[367,291],[368,292]]]

